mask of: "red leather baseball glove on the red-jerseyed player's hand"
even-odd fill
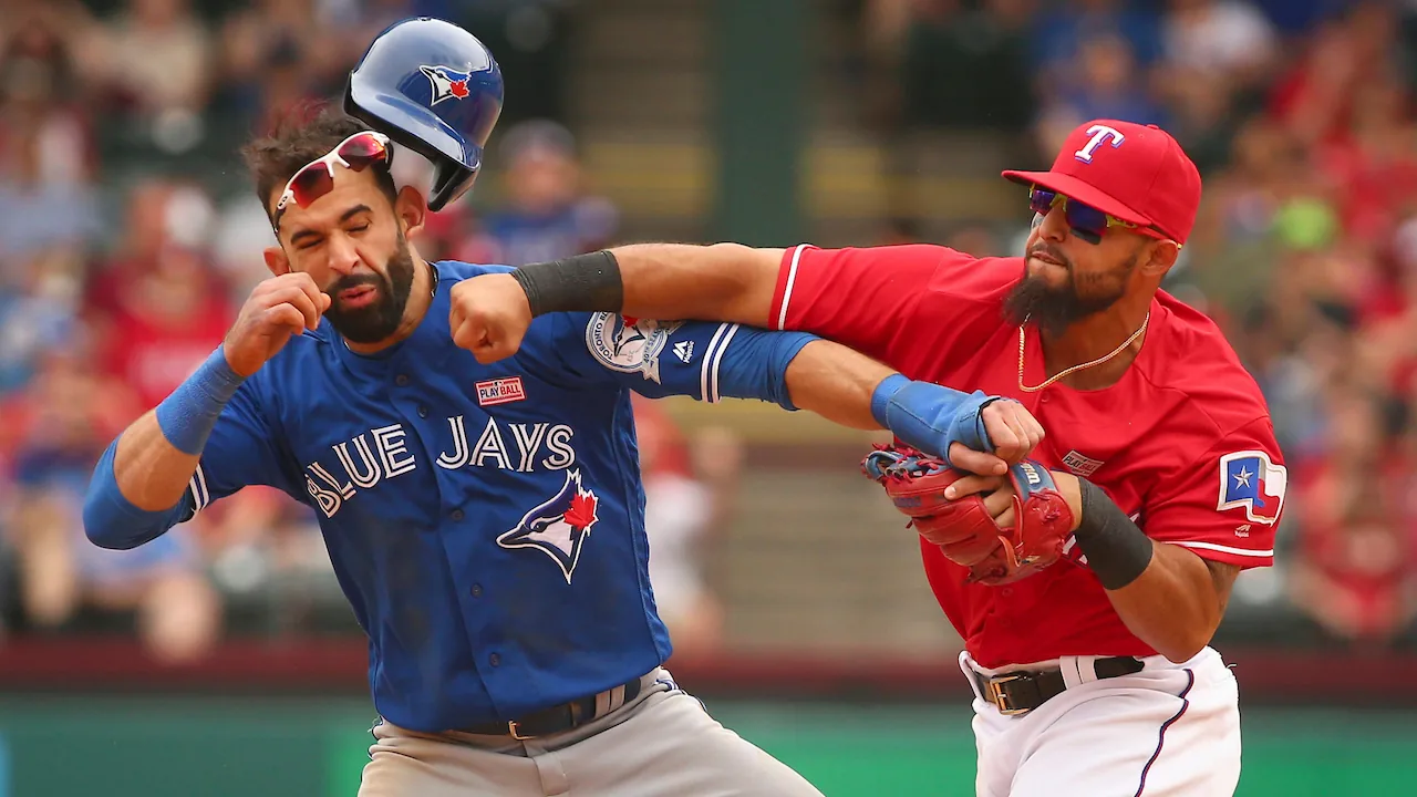
[[[1073,511],[1047,468],[1026,459],[1009,468],[1013,484],[1012,528],[989,516],[979,495],[955,501],[945,488],[966,474],[911,448],[877,447],[862,471],[886,488],[920,536],[939,546],[951,562],[969,569],[969,581],[1010,584],[1053,564],[1073,529]]]

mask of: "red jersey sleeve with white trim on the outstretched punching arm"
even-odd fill
[[[782,257],[771,325],[888,360],[893,340],[908,336],[924,302],[998,305],[1002,271],[979,269],[979,262],[928,244],[847,250],[803,244]]]

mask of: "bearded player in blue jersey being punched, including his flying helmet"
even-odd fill
[[[370,64],[384,81],[373,95]],[[310,506],[368,635],[381,719],[361,797],[818,794],[662,668],[629,391],[761,398],[860,428],[883,418],[999,472],[1041,430],[1015,403],[730,323],[554,313],[516,356],[479,363],[459,340],[456,286],[507,269],[427,262],[411,238],[476,176],[496,64],[465,31],[415,20],[376,40],[361,69],[351,95],[366,113],[445,135],[448,150],[422,145],[436,165],[427,203],[394,183],[390,139],[349,115],[252,143],[273,277],[105,452],[89,539],[143,545],[247,485]]]

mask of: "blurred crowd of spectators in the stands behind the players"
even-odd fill
[[[846,6],[884,140],[982,133],[1034,165],[1088,118],[1182,140],[1206,200],[1168,288],[1226,329],[1291,474],[1280,564],[1241,579],[1231,613],[1288,611],[1328,642],[1417,637],[1417,0]],[[79,499],[265,277],[235,147],[339,91],[414,13],[478,30],[509,81],[496,201],[431,217],[421,252],[514,265],[615,241],[565,126],[564,1],[0,0],[0,638],[137,634],[186,659],[230,632],[353,630],[313,516],[282,495],[248,489],[125,553],[85,542]],[[1015,254],[1019,231],[951,243]],[[660,610],[676,647],[710,650],[704,546],[740,444],[648,401],[636,417]]]

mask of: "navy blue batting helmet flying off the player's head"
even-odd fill
[[[350,72],[344,112],[434,165],[428,208],[472,187],[502,115],[502,69],[461,27],[429,17],[394,23]]]

